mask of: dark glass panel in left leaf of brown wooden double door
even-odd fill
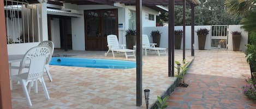
[[[86,17],[87,36],[100,36],[100,16],[97,12],[88,12]]]

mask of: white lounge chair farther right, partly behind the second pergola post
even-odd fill
[[[166,55],[166,48],[155,47],[155,45],[157,45],[157,43],[150,43],[147,35],[142,35],[142,48],[145,50],[145,56],[147,56],[147,49],[150,51],[155,50],[158,56],[161,54]]]

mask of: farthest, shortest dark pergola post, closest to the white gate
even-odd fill
[[[191,56],[195,55],[194,43],[195,43],[195,21],[194,21],[194,5],[191,4]]]

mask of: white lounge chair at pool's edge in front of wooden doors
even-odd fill
[[[134,53],[135,50],[125,49],[124,47],[126,45],[125,44],[119,44],[116,35],[108,35],[107,41],[108,41],[109,50],[108,50],[108,52],[105,53],[105,56],[107,56],[108,53],[111,51],[113,57],[115,57],[114,52],[124,53],[126,55],[126,59],[128,59],[129,56],[134,56],[135,57],[135,53]],[[127,53],[131,53],[131,54],[128,55]]]

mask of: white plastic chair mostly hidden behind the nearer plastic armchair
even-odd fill
[[[38,44],[38,46],[47,46],[47,47],[51,48],[52,53],[51,53],[50,57],[47,59],[47,62],[46,62],[46,65],[45,65],[45,70],[46,70],[46,73],[48,75],[49,80],[52,81],[51,74],[49,72],[49,63],[51,62],[51,57],[52,57],[52,54],[54,52],[54,44],[53,44],[52,41],[43,41],[43,42],[40,42]]]

